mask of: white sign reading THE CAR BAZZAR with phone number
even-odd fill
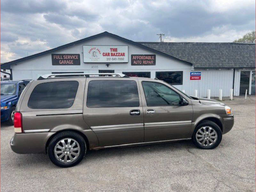
[[[128,45],[83,45],[84,63],[128,63]]]

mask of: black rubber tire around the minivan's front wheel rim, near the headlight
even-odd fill
[[[196,132],[200,128],[205,127],[205,126],[206,127],[210,126],[210,127],[212,127],[217,132],[217,139],[216,139],[215,143],[210,145],[210,146],[203,146],[202,144],[200,145],[199,142],[196,140]],[[192,136],[193,143],[195,144],[195,146],[197,148],[200,148],[200,149],[214,149],[214,148],[218,147],[218,145],[221,142],[221,139],[222,139],[222,132],[220,130],[220,127],[216,123],[214,123],[212,121],[208,121],[208,120],[205,120],[205,121],[202,121],[201,123],[199,123],[196,126],[196,129],[194,130],[194,133],[193,133],[193,136]],[[207,138],[207,140],[208,140],[208,138]],[[210,142],[210,141],[208,141],[208,142]]]

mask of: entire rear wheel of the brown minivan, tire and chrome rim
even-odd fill
[[[50,141],[48,155],[52,163],[59,167],[74,166],[86,153],[84,138],[76,132],[65,131],[56,134]]]

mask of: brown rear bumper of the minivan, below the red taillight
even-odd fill
[[[19,154],[46,153],[46,143],[55,132],[14,133],[10,141],[12,151]]]

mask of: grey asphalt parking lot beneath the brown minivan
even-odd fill
[[[235,125],[213,150],[191,141],[101,149],[66,169],[47,155],[12,152],[13,127],[1,124],[1,192],[255,191],[255,97],[224,103]]]

